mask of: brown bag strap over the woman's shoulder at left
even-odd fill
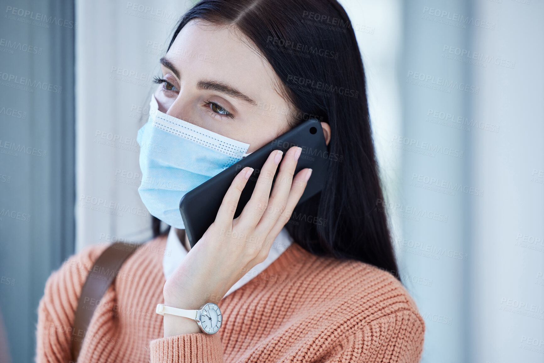
[[[95,264],[89,270],[89,275],[87,275],[85,284],[81,288],[81,294],[79,294],[76,315],[73,321],[73,334],[78,337],[81,336],[81,339],[72,340],[71,353],[73,361],[77,362],[97,302],[102,299],[104,293],[112,285],[123,262],[139,246],[140,244],[114,242],[98,256]]]

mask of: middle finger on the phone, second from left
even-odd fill
[[[243,223],[245,227],[254,229],[261,219],[264,210],[267,208],[270,188],[282,155],[283,152],[281,150],[274,150],[268,156],[267,161],[264,162],[251,198],[239,217],[240,223]]]

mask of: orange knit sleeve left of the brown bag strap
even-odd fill
[[[105,248],[84,249],[67,259],[47,279],[38,307],[36,363],[71,361],[71,342],[82,338],[72,329],[79,294],[94,261]]]

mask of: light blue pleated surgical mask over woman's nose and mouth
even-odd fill
[[[140,198],[153,216],[178,229],[185,228],[181,197],[250,154],[249,144],[160,112],[154,96],[136,140]]]

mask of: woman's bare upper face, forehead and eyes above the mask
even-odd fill
[[[231,30],[192,20],[160,63],[160,112],[250,144],[248,152],[288,131],[280,79]]]

